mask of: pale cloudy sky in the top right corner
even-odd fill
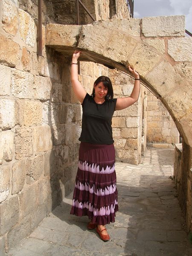
[[[134,18],[185,15],[192,33],[192,0],[134,0]]]

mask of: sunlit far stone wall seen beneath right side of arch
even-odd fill
[[[179,132],[169,112],[149,90],[147,95],[147,142],[179,143]]]

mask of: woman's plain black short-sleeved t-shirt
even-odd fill
[[[93,97],[86,94],[83,102],[82,131],[79,138],[82,142],[112,144],[113,134],[111,120],[117,99],[105,100],[97,104]]]

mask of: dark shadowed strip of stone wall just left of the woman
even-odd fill
[[[44,103],[44,122],[51,128],[52,150],[45,154],[45,170],[50,177],[49,202],[53,210],[74,188],[81,105],[71,95],[70,61],[51,49],[47,52],[51,90],[50,100]]]

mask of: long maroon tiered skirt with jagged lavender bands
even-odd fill
[[[114,145],[81,142],[70,214],[99,225],[115,221],[117,204]]]

